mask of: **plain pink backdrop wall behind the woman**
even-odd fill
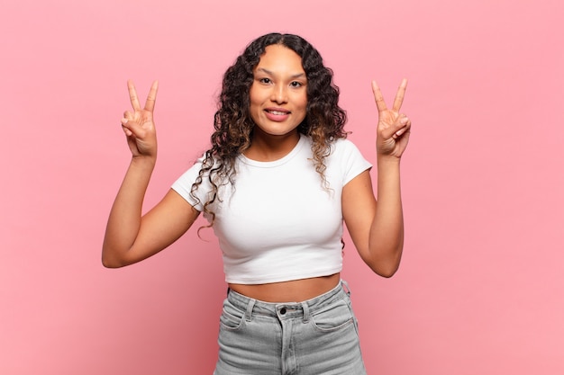
[[[368,373],[564,373],[561,4],[2,0],[0,373],[211,373],[211,232],[100,263],[129,163],[125,81],[160,82],[149,207],[205,149],[225,68],[268,31],[320,49],[371,160],[370,80],[391,101],[410,79],[402,266],[378,278],[350,241],[345,257]]]

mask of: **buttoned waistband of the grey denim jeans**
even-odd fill
[[[241,311],[245,311],[245,319],[247,321],[250,321],[252,316],[260,315],[278,317],[280,319],[302,317],[306,322],[315,311],[349,295],[349,285],[346,281],[341,280],[332,290],[302,302],[265,302],[259,299],[250,299],[234,290],[229,290],[227,299],[233,306]]]

